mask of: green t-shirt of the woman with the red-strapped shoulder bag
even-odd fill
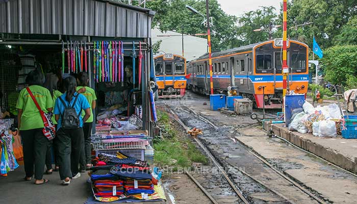
[[[34,94],[42,111],[47,113],[48,108],[53,108],[53,100],[48,89],[33,85],[29,87]],[[22,110],[20,130],[31,130],[43,127],[43,121],[33,99],[26,89],[20,91],[16,108]]]

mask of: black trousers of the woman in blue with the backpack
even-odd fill
[[[83,129],[82,127],[68,130],[60,128],[56,138],[54,142],[57,147],[60,177],[64,180],[79,172],[78,165],[83,149]]]

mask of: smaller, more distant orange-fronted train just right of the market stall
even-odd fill
[[[187,85],[186,58],[176,54],[154,57],[159,98],[183,97]]]

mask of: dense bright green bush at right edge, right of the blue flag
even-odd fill
[[[337,45],[324,50],[321,67],[325,80],[348,85],[347,80],[357,76],[357,45]]]

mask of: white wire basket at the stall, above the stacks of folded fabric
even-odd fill
[[[125,141],[125,142],[94,142],[92,143],[94,150],[107,149],[145,149],[147,140],[143,141]]]

